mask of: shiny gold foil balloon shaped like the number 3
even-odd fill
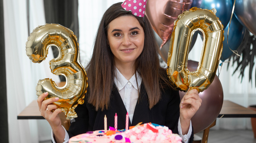
[[[59,97],[54,102],[65,113],[66,119],[77,117],[75,107],[84,102],[83,98],[87,88],[87,77],[84,68],[79,62],[77,38],[73,31],[59,24],[45,24],[38,26],[28,37],[26,42],[26,54],[34,63],[42,62],[48,54],[48,48],[55,45],[59,50],[59,56],[52,59],[51,72],[55,75],[64,75],[66,85],[57,87],[52,79],[39,80],[36,86],[36,95],[44,92],[51,97]]]

